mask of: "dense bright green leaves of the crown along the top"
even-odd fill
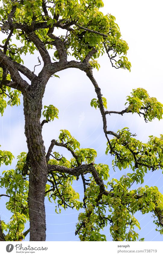
[[[61,26],[64,24],[72,24],[73,30],[67,33],[67,36],[59,36],[61,40],[65,40],[67,54],[71,54],[77,60],[83,61],[86,55],[94,47],[97,52],[93,54],[91,64],[93,67],[99,68],[95,59],[104,53],[106,47],[110,52],[111,61],[116,63],[116,67],[127,68],[130,70],[130,62],[128,62],[127,54],[128,45],[126,41],[121,39],[121,33],[118,24],[115,23],[115,17],[111,14],[104,15],[99,8],[103,7],[102,0],[98,1],[77,1],[77,0],[53,0],[47,1],[49,6],[48,14],[42,16],[42,1],[27,0],[22,3],[15,1],[16,11],[13,21],[31,26],[33,18],[35,24],[41,24],[35,30],[36,35],[46,43],[47,49],[52,48],[51,40],[48,38],[48,27],[52,27],[57,23],[57,17],[60,17]],[[6,13],[10,13],[14,3],[12,1],[3,1],[3,7],[0,8],[0,21],[7,21]],[[7,12],[6,12],[7,10]],[[33,16],[33,14],[35,14]],[[45,25],[46,23],[46,25]],[[56,26],[56,25],[55,25]],[[84,30],[86,27],[88,30]],[[108,36],[103,37],[101,34],[95,34],[98,31]],[[13,34],[22,46],[17,45],[9,40],[7,55],[18,63],[24,63],[21,55],[34,53],[37,50],[31,40],[27,39],[26,33],[21,30],[14,29]],[[5,40],[4,42],[5,43]],[[72,53],[71,53],[72,52]],[[115,59],[117,56],[117,59]],[[59,59],[58,50],[54,52],[54,59]]]

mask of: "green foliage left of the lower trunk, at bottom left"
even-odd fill
[[[11,153],[5,152],[10,159]],[[6,194],[9,201],[6,203],[6,208],[12,213],[9,223],[3,221],[2,231],[7,232],[6,241],[18,241],[24,239],[23,231],[24,224],[29,220],[28,214],[28,186],[27,178],[22,177],[22,170],[25,164],[26,153],[22,152],[17,157],[18,162],[16,169],[2,172],[0,177],[0,187],[6,188]],[[12,156],[13,157],[13,156]],[[11,163],[11,161],[10,161]],[[6,162],[5,162],[6,164]]]

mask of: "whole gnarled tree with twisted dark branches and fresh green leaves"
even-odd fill
[[[3,114],[7,104],[19,105],[20,94],[23,95],[28,152],[20,153],[16,168],[5,171],[0,180],[1,187],[6,188],[6,194],[0,196],[9,198],[6,207],[13,213],[9,223],[0,221],[2,241],[24,239],[28,232],[31,241],[45,241],[45,196],[57,204],[59,212],[61,207],[84,208],[76,228],[81,241],[105,241],[100,231],[107,224],[110,224],[114,241],[137,240],[136,211],[152,212],[157,229],[163,233],[162,194],[156,187],[132,190],[135,182],[143,183],[147,170],[163,169],[163,135],[151,136],[148,143],[142,143],[127,127],[109,131],[106,119],[114,113],[137,113],[145,122],[154,118],[160,120],[163,105],[146,90],[137,88],[127,96],[124,110],[107,110],[107,101],[92,73],[93,68],[99,68],[96,59],[106,52],[114,68],[130,71],[131,64],[126,57],[128,45],[121,39],[115,17],[103,15],[99,11],[101,7],[101,0],[3,0],[0,9],[1,34],[4,33],[0,45],[0,112]],[[60,36],[55,35],[57,28]],[[42,65],[38,75],[23,62],[24,54],[36,51],[40,55],[38,65]],[[70,61],[68,56],[71,56]],[[106,154],[114,156],[113,168],[129,172],[119,181],[109,179],[107,165],[94,163],[96,150],[80,148],[80,143],[67,130],[61,130],[58,140],[52,139],[45,153],[42,126],[58,118],[58,109],[49,105],[44,106],[42,112],[42,98],[49,78],[58,77],[56,73],[67,68],[85,72],[95,88],[97,98],[90,104],[102,115]],[[45,119],[41,122],[42,115]],[[113,136],[111,140],[109,135]],[[69,150],[71,160],[56,151],[52,154],[54,147]],[[0,164],[11,164],[12,160],[12,153],[0,151]],[[73,181],[80,177],[84,189],[82,201],[72,187]],[[30,228],[24,232],[27,220],[30,220]]]

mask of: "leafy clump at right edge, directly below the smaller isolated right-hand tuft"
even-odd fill
[[[117,152],[113,165],[118,168],[131,168],[133,171],[138,169],[139,173],[163,169],[163,135],[160,138],[149,136],[147,143],[136,140],[128,128],[118,131],[118,137],[111,140],[111,147]],[[110,146],[106,149],[106,154],[110,150]],[[143,182],[142,182],[143,183]]]

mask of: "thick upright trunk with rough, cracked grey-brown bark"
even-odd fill
[[[40,117],[45,83],[34,81],[24,94],[25,135],[30,156],[29,216],[30,241],[45,241],[45,185],[47,165]]]

